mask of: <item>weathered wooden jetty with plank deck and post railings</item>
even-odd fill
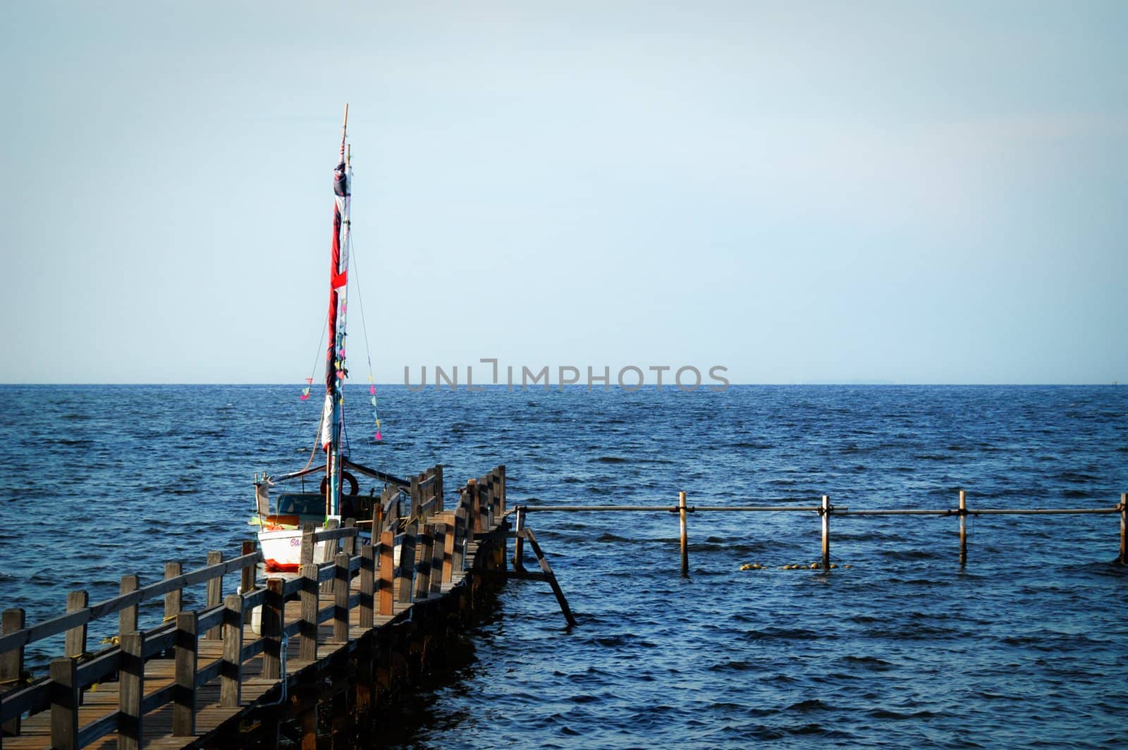
[[[403,514],[400,501],[406,504]],[[371,527],[372,539],[358,544],[362,526]],[[285,709],[287,691],[305,674],[317,673],[342,651],[355,659],[358,648],[367,654],[359,671],[365,685],[358,689],[370,696],[377,671],[384,669],[388,680],[394,671],[378,663],[381,659],[408,659],[374,650],[373,634],[408,618],[418,628],[434,607],[465,609],[466,594],[488,577],[476,572],[504,567],[506,531],[503,466],[470,479],[449,511],[443,509],[442,467],[433,467],[412,478],[406,497],[398,488],[387,489],[370,520],[307,527],[300,573],[289,580],[257,580],[262,554],[248,540],[237,557],[224,562],[212,552],[208,565],[188,573],[180,563],[168,563],[164,580],[149,585],[139,585],[135,575],[123,576],[121,594],[96,605],[88,603],[85,591],[71,592],[65,615],[30,627],[24,610],[5,610],[0,743],[65,750],[116,735],[118,748],[139,748],[156,736],[165,738],[162,748],[200,747],[237,732],[250,711]],[[334,542],[338,552],[333,559],[312,562],[318,541]],[[224,597],[224,576],[235,573],[240,576],[238,593]],[[206,584],[206,605],[184,611],[184,589],[199,584]],[[138,606],[158,597],[165,598],[165,621],[139,630]],[[423,609],[412,614],[418,607]],[[89,653],[88,625],[114,614],[120,635],[109,647]],[[51,661],[46,677],[32,679],[25,648],[60,634],[65,634],[63,656]],[[250,673],[255,679],[248,681]],[[112,694],[103,686],[115,677],[116,700],[95,700],[96,686],[97,696]],[[305,708],[303,741],[316,733],[316,702],[311,723]],[[205,715],[204,731],[199,731]]]

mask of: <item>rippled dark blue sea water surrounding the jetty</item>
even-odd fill
[[[292,386],[0,387],[0,607],[203,564],[249,528],[252,474],[305,465],[316,405]],[[362,396],[362,394],[358,394]],[[361,462],[496,464],[510,504],[1111,508],[1128,491],[1128,388],[733,387],[412,394],[381,388]],[[311,399],[312,400],[312,399]],[[350,399],[361,409],[363,398]],[[365,487],[367,491],[367,487]],[[1128,743],[1128,572],[1116,515],[529,515],[548,586],[510,582],[474,659],[418,698],[418,747],[1113,747]],[[531,561],[530,561],[531,563]],[[760,563],[765,571],[740,571]],[[849,567],[845,567],[849,565]],[[188,592],[187,603],[203,591]],[[153,602],[143,625],[160,620]],[[91,641],[116,623],[91,627]],[[99,629],[103,628],[103,629]],[[34,664],[61,648],[44,642]]]

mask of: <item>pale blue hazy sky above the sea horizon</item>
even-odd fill
[[[1128,382],[1126,70],[1119,1],[5,3],[0,382],[319,379],[345,103],[354,380]]]

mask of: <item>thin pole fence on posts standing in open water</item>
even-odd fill
[[[535,500],[535,498],[534,498]],[[961,489],[959,505],[957,508],[932,508],[932,509],[852,509],[846,505],[831,505],[830,496],[822,495],[819,505],[687,505],[686,493],[678,493],[678,504],[670,505],[517,505],[509,512],[517,518],[517,528],[525,529],[526,513],[532,512],[557,512],[557,513],[603,513],[603,512],[662,512],[677,513],[680,527],[681,541],[681,574],[689,575],[689,536],[687,515],[689,513],[817,513],[822,527],[822,561],[814,564],[822,570],[830,568],[830,519],[838,517],[870,517],[870,515],[931,515],[931,517],[957,517],[960,520],[960,565],[968,562],[968,530],[967,518],[969,515],[1077,515],[1077,514],[1112,514],[1120,515],[1120,552],[1117,563],[1128,565],[1128,493],[1120,495],[1120,503],[1111,508],[968,508],[967,493]],[[514,566],[522,565],[521,539],[514,544]]]

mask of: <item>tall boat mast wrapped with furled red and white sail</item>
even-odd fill
[[[321,443],[327,455],[326,512],[341,512],[341,432],[344,421],[345,379],[345,291],[349,283],[349,157],[345,138],[349,130],[349,105],[341,126],[341,156],[333,173],[333,246],[329,267],[329,348],[325,358],[325,409],[321,415]]]

